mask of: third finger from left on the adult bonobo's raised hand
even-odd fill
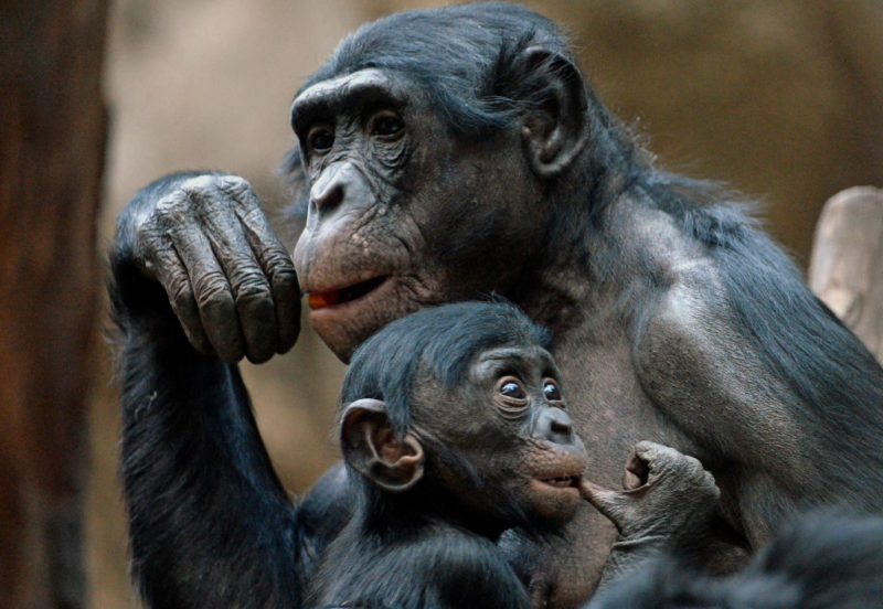
[[[222,182],[223,184],[223,182]],[[270,287],[243,235],[235,203],[216,193],[193,192],[196,213],[226,274],[245,340],[245,355],[266,362],[276,351],[276,312]]]

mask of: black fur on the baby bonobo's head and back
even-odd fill
[[[453,388],[478,353],[502,345],[542,346],[549,340],[547,332],[511,304],[464,302],[418,311],[386,325],[357,350],[342,403],[382,399],[396,435],[404,437],[418,372]],[[433,460],[454,459],[456,471],[469,471],[468,461],[448,455],[443,444],[424,445]],[[427,472],[429,468],[427,462]],[[350,479],[359,507],[331,544],[308,606],[331,600],[402,609],[529,607],[522,583],[494,543],[510,522],[526,523],[514,501],[500,498],[499,521],[487,522],[458,509],[433,480],[390,493],[355,470]],[[476,485],[481,488],[481,481]]]

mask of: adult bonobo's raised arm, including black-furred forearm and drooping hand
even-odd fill
[[[135,196],[110,265],[141,594],[152,607],[290,607],[296,513],[238,371],[219,359],[262,361],[296,340],[285,249],[245,181],[179,174]]]

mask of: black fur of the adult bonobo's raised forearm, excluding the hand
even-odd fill
[[[188,175],[155,182],[127,213]],[[238,368],[198,353],[162,288],[129,259],[111,252],[109,292],[123,345],[123,482],[138,590],[155,608],[299,607],[350,506],[320,481],[296,509]]]

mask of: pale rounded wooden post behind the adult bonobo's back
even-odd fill
[[[809,287],[883,362],[883,190],[832,196],[816,226]]]

